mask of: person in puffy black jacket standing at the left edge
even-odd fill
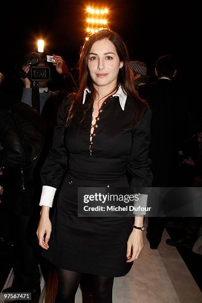
[[[13,284],[2,292],[31,292],[40,297],[40,272],[36,247],[34,173],[45,141],[45,124],[36,110],[13,100],[0,87],[0,172],[3,190],[0,228],[14,239]],[[1,199],[1,198],[0,198]],[[6,230],[5,230],[6,229]],[[7,233],[7,234],[6,234]],[[34,301],[32,301],[34,302]]]

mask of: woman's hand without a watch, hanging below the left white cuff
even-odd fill
[[[41,214],[39,226],[37,229],[37,237],[39,240],[39,245],[45,249],[49,249],[49,239],[51,233],[51,222],[49,218],[49,214]]]

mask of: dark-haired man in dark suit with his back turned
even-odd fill
[[[184,138],[190,130],[190,118],[185,97],[173,80],[176,72],[173,57],[161,56],[155,66],[158,80],[139,89],[140,96],[149,101],[152,109],[150,158],[153,187],[179,186],[177,163]],[[157,249],[165,223],[166,217],[148,218],[147,238],[151,249]]]

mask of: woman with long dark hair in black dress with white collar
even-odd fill
[[[111,303],[113,278],[126,275],[142,250],[143,217],[78,217],[77,188],[151,185],[151,110],[135,91],[118,34],[101,30],[90,36],[81,49],[79,72],[79,90],[60,106],[42,168],[37,234],[44,257],[57,266],[55,302],[73,303],[81,274],[89,273],[94,275],[94,303]]]

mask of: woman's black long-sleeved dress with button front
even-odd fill
[[[134,217],[78,217],[77,187],[129,187],[126,170],[132,175],[132,186],[151,185],[151,110],[147,109],[134,130],[124,130],[133,124],[135,101],[127,97],[123,111],[119,97],[106,100],[94,130],[91,153],[93,105],[82,123],[72,121],[64,129],[65,102],[59,108],[53,145],[41,173],[43,185],[58,188],[62,180],[51,221],[50,248],[42,254],[63,269],[124,276],[133,265],[126,262],[126,250]]]

